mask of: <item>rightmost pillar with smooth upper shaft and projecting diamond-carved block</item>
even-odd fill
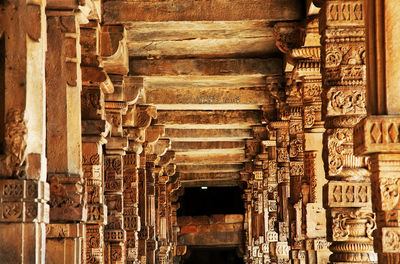
[[[354,128],[354,151],[370,158],[374,248],[379,263],[392,264],[400,262],[399,6],[392,0],[365,2],[369,116]]]

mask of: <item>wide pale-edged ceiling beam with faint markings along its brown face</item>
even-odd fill
[[[254,110],[271,100],[259,75],[146,77],[144,87],[141,103],[159,110]]]

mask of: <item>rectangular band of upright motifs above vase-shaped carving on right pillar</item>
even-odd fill
[[[330,207],[371,206],[371,184],[360,182],[330,181],[328,204]]]

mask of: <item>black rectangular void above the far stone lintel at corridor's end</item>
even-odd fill
[[[185,188],[178,216],[244,214],[239,187]]]

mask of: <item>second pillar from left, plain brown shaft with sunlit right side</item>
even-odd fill
[[[47,160],[50,183],[48,263],[82,263],[86,189],[82,175],[81,47],[82,22],[57,3],[46,6]],[[60,10],[63,11],[60,11]]]

